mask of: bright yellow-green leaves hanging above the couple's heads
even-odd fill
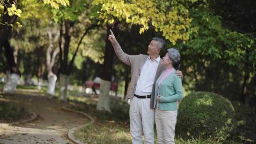
[[[196,1],[93,0],[92,4],[95,9],[100,9],[96,17],[102,19],[103,23],[125,20],[128,24],[141,26],[140,34],[152,27],[175,45],[177,40],[188,40],[190,33],[196,32],[190,27],[192,18],[189,18],[187,7]]]

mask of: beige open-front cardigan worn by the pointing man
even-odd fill
[[[131,81],[128,86],[126,97],[128,99],[133,99],[137,81],[140,76],[141,68],[145,64],[146,58],[148,57],[148,55],[145,55],[145,54],[128,55],[123,52],[118,42],[113,43],[112,45],[114,47],[115,53],[117,54],[119,60],[131,67]],[[154,103],[155,81],[158,79],[160,74],[164,71],[164,65],[161,63],[161,61],[162,59],[159,62],[159,65],[157,67],[156,74],[155,74],[155,80],[154,80],[152,95],[150,99],[150,108],[153,108],[153,103]]]

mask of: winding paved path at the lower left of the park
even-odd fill
[[[73,144],[67,139],[67,131],[89,122],[82,115],[61,109],[68,103],[49,100],[40,93],[11,94],[6,98],[22,103],[38,117],[19,126],[1,127],[0,124],[0,144]]]

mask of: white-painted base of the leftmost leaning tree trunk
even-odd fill
[[[16,73],[11,73],[8,76],[8,79],[4,85],[3,92],[14,92],[17,88],[18,81],[19,81],[19,75]]]

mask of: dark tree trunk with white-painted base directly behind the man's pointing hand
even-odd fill
[[[107,27],[107,36],[106,36],[106,45],[105,45],[105,53],[104,53],[104,64],[103,71],[101,75],[101,90],[99,94],[99,101],[97,104],[98,110],[107,110],[110,112],[110,83],[112,76],[112,63],[114,56],[114,49],[108,40],[110,35],[110,26]],[[112,31],[117,36],[118,27],[113,27]]]

